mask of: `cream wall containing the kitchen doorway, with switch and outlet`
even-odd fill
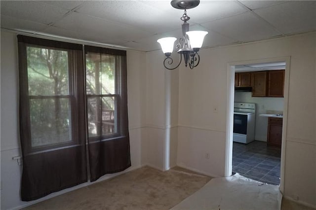
[[[202,49],[197,68],[181,67],[177,164],[223,176],[228,63],[285,56],[291,59],[284,195],[316,206],[316,33]]]

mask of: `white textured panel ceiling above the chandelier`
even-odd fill
[[[0,1],[1,28],[54,35],[141,51],[157,39],[181,36],[170,0]],[[187,10],[192,30],[206,30],[202,47],[316,31],[316,1],[200,0]]]

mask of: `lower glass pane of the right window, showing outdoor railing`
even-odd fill
[[[87,108],[89,137],[117,133],[115,97],[90,97]]]

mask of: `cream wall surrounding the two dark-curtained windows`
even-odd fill
[[[141,139],[144,137],[146,119],[146,68],[142,61],[146,57],[143,52],[127,51],[127,86],[130,152],[132,167],[130,171],[141,166]],[[23,207],[34,202],[20,200],[20,179],[22,166],[18,166],[14,156],[20,156],[18,129],[18,57],[16,34],[1,31],[1,209]],[[120,173],[118,173],[120,174]],[[114,174],[116,175],[116,174]],[[106,179],[114,175],[105,175]],[[69,188],[58,193],[67,192],[78,187]],[[43,200],[39,199],[39,200]],[[36,202],[36,201],[35,201]]]

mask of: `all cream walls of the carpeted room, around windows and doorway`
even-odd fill
[[[291,56],[284,194],[316,206],[315,51],[315,33],[288,36],[202,49],[197,68],[172,72],[163,68],[160,50],[128,51],[132,166],[167,170],[176,163],[223,176],[228,63]],[[16,35],[1,32],[1,209],[25,204],[19,198],[21,167],[11,159],[20,155],[17,79]]]

